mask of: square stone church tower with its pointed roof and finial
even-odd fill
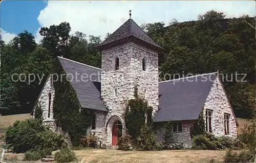
[[[124,124],[125,101],[134,98],[135,85],[138,95],[145,97],[155,113],[158,110],[158,53],[162,48],[134,22],[131,13],[97,48],[102,52],[101,99],[109,111],[107,123],[112,117],[119,117]]]

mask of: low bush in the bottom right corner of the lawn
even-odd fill
[[[251,162],[254,159],[254,154],[251,151],[243,151],[240,153],[232,152],[231,150],[228,150],[226,155],[224,156],[224,162]]]

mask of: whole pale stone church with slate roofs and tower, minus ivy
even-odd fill
[[[138,94],[153,107],[154,123],[173,122],[177,143],[191,146],[190,128],[203,109],[206,131],[216,136],[237,136],[238,122],[228,101],[218,73],[158,81],[158,54],[163,49],[130,17],[97,48],[102,53],[101,69],[58,57],[66,74],[73,75],[71,85],[83,109],[94,111],[88,132],[95,132],[102,147],[116,147],[118,130],[125,132],[125,102]],[[82,75],[83,74],[83,75]],[[86,74],[86,75],[84,75]],[[88,80],[81,80],[81,77]],[[61,131],[54,123],[54,86],[49,76],[36,105],[40,105],[46,125]],[[31,114],[34,114],[34,109]],[[163,140],[163,128],[157,136]]]

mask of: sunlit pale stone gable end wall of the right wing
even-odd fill
[[[227,136],[237,137],[236,120],[219,77],[217,77],[214,83],[212,84],[209,95],[205,101],[204,117],[206,109],[212,110],[212,133],[214,135],[225,135],[224,113],[227,113],[230,115],[229,135]]]

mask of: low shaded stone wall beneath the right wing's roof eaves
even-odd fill
[[[193,126],[193,121],[183,121],[182,122],[182,132],[173,132],[173,139],[175,143],[184,145],[186,148],[192,146],[192,140],[190,137],[190,128]],[[158,123],[156,129],[158,141],[164,141],[165,126],[163,123]]]

